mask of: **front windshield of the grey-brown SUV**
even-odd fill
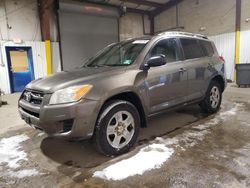
[[[133,40],[112,44],[104,48],[93,58],[90,58],[84,66],[101,67],[131,65],[148,41],[149,40]]]

